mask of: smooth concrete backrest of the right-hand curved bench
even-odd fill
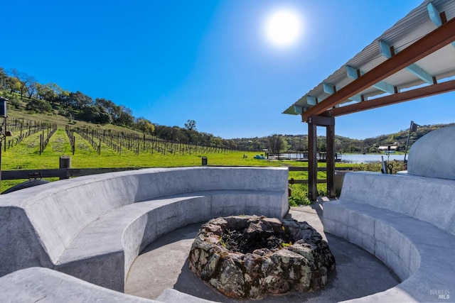
[[[455,235],[455,180],[350,172],[340,198],[412,216]]]

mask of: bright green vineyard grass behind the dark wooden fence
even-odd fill
[[[90,168],[90,167],[184,167],[199,166],[202,164],[202,157],[208,158],[208,165],[232,165],[232,166],[307,166],[306,162],[296,161],[277,161],[277,160],[257,160],[254,158],[257,152],[224,152],[224,153],[196,153],[192,155],[173,155],[167,153],[146,153],[141,151],[136,155],[130,150],[124,149],[122,155],[115,152],[107,145],[101,145],[101,153],[85,141],[82,137],[75,134],[75,155],[72,155],[71,145],[68,136],[63,128],[58,130],[50,138],[50,141],[41,155],[39,154],[40,133],[28,136],[23,141],[2,152],[2,170],[33,170],[50,169],[59,167],[59,158],[63,155],[71,156],[71,167]],[[245,156],[246,157],[245,157]],[[325,165],[320,163],[321,166]],[[307,179],[308,172],[289,172],[289,177],[295,180]],[[324,179],[325,172],[319,172],[318,178]],[[58,178],[50,178],[54,181]],[[4,180],[1,182],[1,190],[4,191],[25,180]],[[292,205],[309,204],[307,196],[307,186],[302,184],[291,185],[293,197],[290,202]],[[326,193],[326,185],[318,184],[321,194]]]

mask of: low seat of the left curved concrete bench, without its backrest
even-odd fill
[[[245,205],[242,211],[248,214],[276,214],[270,197],[280,199],[280,196],[278,192],[218,190],[128,204],[85,226],[60,255],[54,269],[102,287],[124,290],[129,267],[156,238],[188,224],[240,214],[239,204]],[[94,274],[81,272],[81,262],[85,267],[90,266]]]

